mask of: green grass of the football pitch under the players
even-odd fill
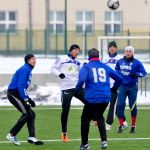
[[[0,150],[79,150],[80,140],[72,140],[69,143],[61,141],[45,142],[43,146],[35,146],[28,143],[22,143],[21,146],[15,146],[6,141],[5,136],[10,128],[20,116],[16,110],[7,110],[8,107],[0,107]],[[14,108],[14,107],[9,107]],[[37,107],[41,108],[41,107]],[[43,108],[43,107],[42,107]],[[60,140],[61,109],[48,109],[54,106],[46,106],[44,109],[34,109],[36,112],[36,137],[43,140]],[[80,116],[81,109],[71,109],[68,121],[68,135],[70,139],[80,139]],[[106,115],[106,113],[105,113]],[[130,125],[130,112],[126,110],[128,124]],[[130,127],[123,133],[117,133],[118,122],[115,120],[112,130],[108,131],[108,150],[149,150],[150,139],[133,139],[133,138],[150,138],[150,113],[149,110],[138,110],[137,130],[135,134],[130,134]],[[19,141],[26,141],[28,131],[26,125],[17,136]],[[90,127],[89,139],[98,139],[99,133],[95,126]],[[118,139],[117,139],[118,138]],[[128,140],[126,140],[129,138]],[[91,150],[100,150],[100,140],[89,140]]]

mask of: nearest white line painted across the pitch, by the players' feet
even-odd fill
[[[89,141],[99,141],[99,138],[89,139]],[[150,138],[108,138],[108,141],[137,141],[137,140],[150,140]],[[42,140],[43,142],[62,142],[62,140]],[[70,142],[81,141],[81,139],[70,139]],[[27,141],[19,141],[21,143],[27,143]],[[0,141],[0,144],[11,143],[10,141]]]

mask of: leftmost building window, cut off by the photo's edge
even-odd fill
[[[0,11],[0,33],[16,32],[16,12],[15,11]]]

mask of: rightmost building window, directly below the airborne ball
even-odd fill
[[[105,12],[104,21],[105,35],[122,34],[122,12],[107,11]]]

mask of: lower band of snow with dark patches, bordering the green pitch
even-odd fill
[[[0,106],[11,105],[6,97],[7,86],[0,88]],[[47,84],[45,86],[33,85],[30,87],[29,96],[36,102],[37,105],[61,105],[61,92],[58,84]],[[138,92],[137,104],[150,104],[150,92]],[[82,105],[80,100],[73,98],[72,105]],[[127,100],[128,105],[128,100]]]

